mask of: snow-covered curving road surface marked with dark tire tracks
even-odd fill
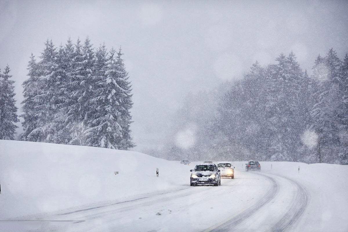
[[[309,196],[292,179],[236,171],[221,186],[182,186],[124,202],[12,222],[31,231],[304,231]],[[8,222],[11,223],[11,222]],[[17,227],[19,229],[19,227]]]

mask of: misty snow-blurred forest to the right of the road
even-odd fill
[[[348,55],[333,49],[308,76],[294,53],[241,80],[190,94],[174,117],[169,159],[348,163]],[[192,140],[193,139],[193,140]],[[192,140],[191,143],[187,141]]]

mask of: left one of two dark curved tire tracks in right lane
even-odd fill
[[[279,191],[279,186],[274,178],[270,176],[266,176],[266,175],[262,175],[262,176],[266,177],[272,183],[272,185],[270,189],[267,191],[267,193],[258,202],[256,202],[253,206],[247,208],[242,213],[228,219],[227,221],[224,221],[220,224],[210,227],[209,229],[204,230],[203,232],[231,231],[235,228],[235,226],[237,226],[238,224],[245,221],[247,218],[254,215],[259,209],[261,209],[261,207],[269,203]]]

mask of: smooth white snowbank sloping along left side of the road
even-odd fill
[[[184,188],[185,167],[133,151],[0,140],[0,219]]]

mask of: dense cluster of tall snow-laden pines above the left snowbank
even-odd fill
[[[94,48],[87,37],[56,48],[47,40],[28,64],[22,84],[23,141],[106,147],[134,147],[133,105],[121,49]],[[13,120],[15,122],[15,120]],[[13,138],[7,137],[8,139]]]

